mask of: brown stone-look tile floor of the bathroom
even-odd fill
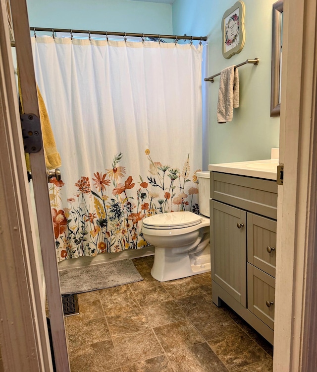
[[[142,282],[78,295],[65,318],[72,372],[272,372],[272,346],[211,300],[210,273],[160,283],[153,256]]]

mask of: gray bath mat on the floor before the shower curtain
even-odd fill
[[[59,272],[61,294],[82,293],[143,280],[132,260],[118,260]]]

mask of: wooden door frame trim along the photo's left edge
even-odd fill
[[[0,2],[0,346],[4,371],[53,371],[6,4]]]

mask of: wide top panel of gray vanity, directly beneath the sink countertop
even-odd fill
[[[276,220],[276,181],[211,172],[211,198]]]

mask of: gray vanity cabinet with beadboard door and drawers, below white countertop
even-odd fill
[[[212,300],[273,343],[276,181],[211,172]]]

